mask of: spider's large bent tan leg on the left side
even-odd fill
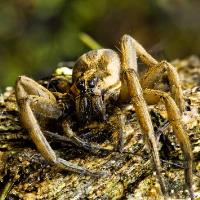
[[[92,176],[103,175],[101,172],[94,172],[89,169],[85,169],[57,157],[54,150],[44,137],[35,114],[55,119],[61,116],[62,111],[58,107],[53,94],[26,76],[18,78],[15,91],[22,124],[30,134],[37,149],[46,160],[67,171]]]

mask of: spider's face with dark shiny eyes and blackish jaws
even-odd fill
[[[102,90],[99,88],[98,76],[81,77],[73,85],[76,91],[75,109],[80,122],[91,120],[102,121],[105,119],[105,104]]]

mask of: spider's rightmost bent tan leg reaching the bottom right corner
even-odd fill
[[[172,97],[166,92],[152,89],[144,90],[144,97],[147,103],[156,104],[160,100],[164,101],[168,119],[174,133],[180,143],[181,150],[185,157],[185,182],[188,186],[191,199],[194,198],[193,189],[192,189],[192,148],[190,145],[190,140],[188,135],[185,133],[182,122],[180,111],[172,99]]]

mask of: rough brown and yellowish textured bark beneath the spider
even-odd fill
[[[191,57],[177,60],[174,64],[182,79],[187,102],[183,122],[194,153],[194,191],[200,197],[200,178],[196,176],[200,176],[200,62]],[[127,125],[123,153],[92,155],[65,144],[56,136],[48,136],[62,158],[107,172],[107,176],[95,178],[60,171],[45,161],[20,125],[12,88],[7,88],[0,102],[0,199],[162,199],[133,111],[124,111]],[[171,197],[184,199],[188,192],[181,168],[183,156],[171,127],[163,128],[165,109],[159,104],[149,106],[149,110],[155,130],[159,130],[155,132],[159,133],[161,158],[166,160],[163,162],[163,176],[167,189]],[[103,136],[105,133],[99,137]],[[102,145],[113,144],[114,138],[115,134],[105,139]]]

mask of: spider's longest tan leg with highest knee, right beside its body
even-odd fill
[[[165,198],[168,197],[166,186],[161,175],[161,162],[157,147],[156,138],[154,135],[151,117],[148,112],[147,104],[143,97],[142,87],[138,77],[131,64],[136,63],[136,57],[132,54],[134,51],[133,39],[130,36],[124,35],[121,40],[122,52],[122,74],[121,74],[121,91],[120,99],[124,101],[128,99],[135,107],[135,112],[138,117],[141,129],[145,134],[150,153],[153,158],[153,164],[156,169],[157,177],[161,186],[162,193]],[[132,60],[132,61],[131,61]],[[134,60],[134,61],[133,61]]]

